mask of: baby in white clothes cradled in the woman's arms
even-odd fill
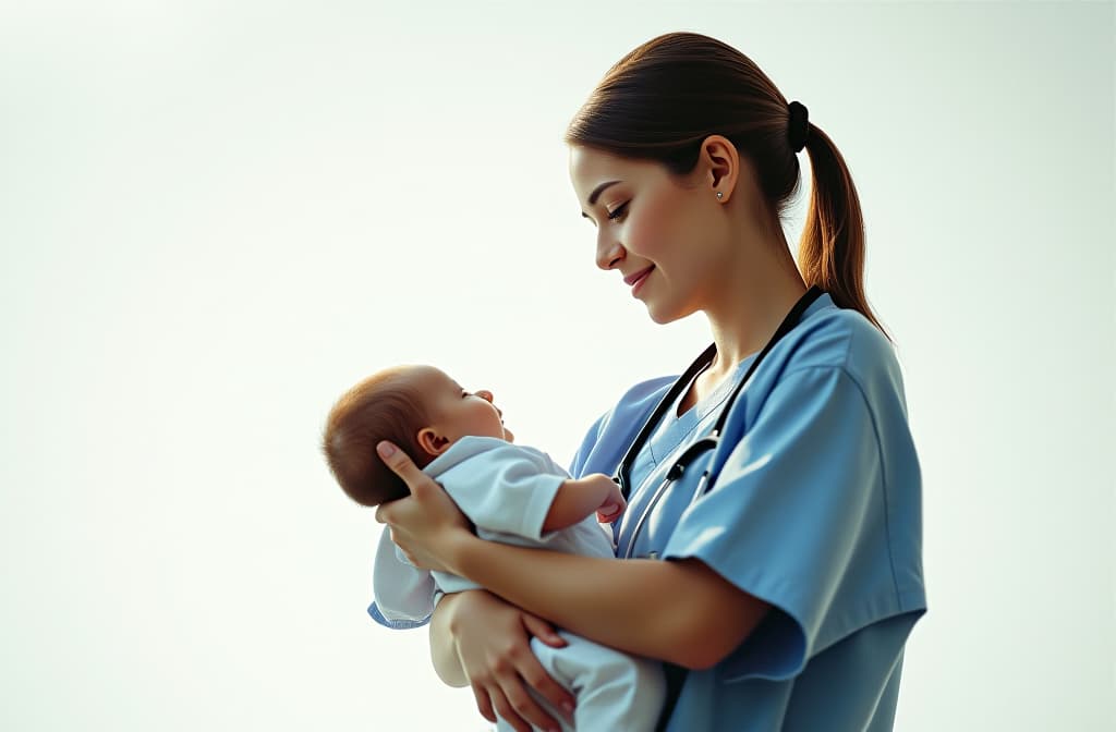
[[[341,489],[362,505],[408,494],[376,454],[388,440],[442,484],[482,539],[613,557],[610,533],[597,520],[624,510],[604,474],[573,479],[550,458],[512,444],[490,392],[468,392],[432,366],[400,366],[360,382],[334,405],[323,450]],[[398,625],[425,620],[435,593],[479,587],[462,577],[408,564],[383,532],[373,576],[372,611]],[[654,729],[665,695],[662,665],[559,632],[568,645],[535,639],[542,666],[577,699],[574,726],[537,697],[562,730]],[[498,730],[511,729],[503,720]]]

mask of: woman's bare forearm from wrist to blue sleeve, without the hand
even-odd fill
[[[690,668],[731,653],[769,607],[696,559],[602,559],[462,534],[458,574],[586,638]]]

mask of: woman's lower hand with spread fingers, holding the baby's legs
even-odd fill
[[[452,607],[448,606],[451,601]],[[442,606],[448,611],[444,627],[452,635],[484,719],[496,722],[499,714],[519,732],[531,732],[532,724],[542,730],[560,729],[529,687],[573,719],[574,696],[547,674],[531,652],[532,636],[555,648],[566,645],[554,626],[487,590],[451,595]],[[435,623],[440,619],[435,617]]]

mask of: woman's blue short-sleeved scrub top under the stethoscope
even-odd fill
[[[712,428],[748,365],[667,412],[633,466],[629,510],[654,488],[644,479]],[[672,382],[625,394],[570,472],[615,473]],[[772,610],[720,664],[686,674],[667,729],[891,730],[926,608],[922,482],[892,345],[822,296],[741,391],[719,450],[710,492],[650,529],[663,559],[700,559]]]

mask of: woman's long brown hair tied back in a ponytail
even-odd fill
[[[754,166],[769,211],[782,218],[800,173],[789,117],[787,99],[750,58],[708,36],[677,32],[617,61],[570,122],[566,142],[684,175],[702,142],[723,135]],[[817,125],[808,127],[806,150],[814,185],[798,248],[802,279],[886,335],[864,295],[864,218],[848,166]]]

